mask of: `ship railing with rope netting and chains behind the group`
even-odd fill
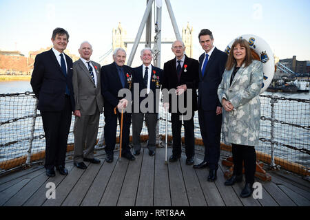
[[[310,164],[310,100],[260,95],[260,142],[256,146],[258,159],[270,168],[285,168],[309,177]],[[170,120],[168,120],[171,123]],[[165,143],[165,112],[160,103],[158,113],[158,145]],[[74,116],[68,137],[68,151],[74,148]],[[99,142],[96,151],[104,148],[104,115],[99,122]],[[204,151],[198,113],[194,117],[196,150]],[[168,140],[172,142],[171,124]],[[132,127],[130,129],[132,138]],[[119,137],[119,126],[116,135]],[[182,137],[184,131],[182,129]],[[147,140],[147,127],[143,125],[141,140]],[[130,140],[132,141],[132,139]],[[200,145],[200,146],[199,146]],[[221,155],[231,156],[231,148],[222,144]],[[16,168],[42,163],[45,155],[45,135],[37,98],[32,92],[0,94],[0,174]]]

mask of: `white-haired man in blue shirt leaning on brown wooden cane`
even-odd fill
[[[118,91],[121,89],[127,89],[127,91],[130,91],[133,73],[131,67],[124,65],[126,52],[123,48],[116,48],[116,50],[114,50],[113,59],[113,63],[101,67],[101,94],[103,95],[105,115],[105,153],[107,154],[105,160],[108,163],[113,162],[117,118],[119,124],[121,124],[120,111],[125,110],[128,104],[125,95],[118,97]],[[124,112],[121,156],[134,160],[134,155],[130,152],[129,146],[130,122],[131,113]]]

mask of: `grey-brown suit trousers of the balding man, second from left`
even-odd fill
[[[83,162],[83,158],[94,158],[100,113],[94,115],[81,115],[74,121],[74,162]]]

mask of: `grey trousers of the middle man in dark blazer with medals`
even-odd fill
[[[147,123],[147,131],[149,134],[147,148],[151,151],[155,151],[157,113],[132,113],[132,142],[134,143],[134,150],[141,149],[140,135],[143,128],[143,118],[145,118],[145,122]]]

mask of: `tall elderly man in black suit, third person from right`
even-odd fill
[[[172,97],[169,96],[169,104],[166,102],[165,108],[169,105],[169,112],[172,120],[172,136],[173,136],[173,149],[172,156],[169,158],[169,162],[176,162],[182,153],[181,151],[181,126],[182,116],[185,129],[185,154],[186,164],[194,164],[194,115],[197,111],[197,94],[196,88],[198,87],[198,68],[199,63],[197,60],[187,57],[185,52],[185,45],[183,41],[174,41],[172,44],[172,52],[176,56],[174,59],[164,64],[163,68],[163,89],[176,89],[176,95],[178,98],[177,106],[179,102],[184,100],[185,109],[188,112],[191,108],[191,115],[189,118],[184,118],[185,112],[182,113],[181,109],[177,108],[174,112],[174,102]],[[187,100],[187,89],[192,89],[192,97]],[[189,93],[190,94],[190,93]],[[165,100],[164,100],[165,102]]]

